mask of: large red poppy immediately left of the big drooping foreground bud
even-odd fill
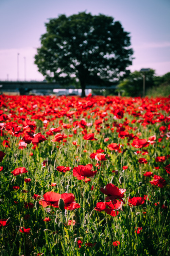
[[[39,204],[41,204],[43,207],[47,207],[48,205],[58,207],[58,201],[61,198],[61,194],[49,191],[44,194],[43,197],[44,199],[39,201]]]

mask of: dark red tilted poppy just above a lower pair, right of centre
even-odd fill
[[[119,200],[123,201],[122,198],[124,197],[123,194],[126,191],[126,189],[124,189],[124,188],[119,189],[114,184],[109,183],[106,185],[105,189],[101,187],[100,191],[103,194],[107,195],[106,201],[114,200],[114,199],[119,199]]]

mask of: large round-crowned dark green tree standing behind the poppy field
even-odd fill
[[[81,12],[49,19],[41,36],[35,64],[49,82],[109,86],[132,64],[129,32],[102,14]]]

